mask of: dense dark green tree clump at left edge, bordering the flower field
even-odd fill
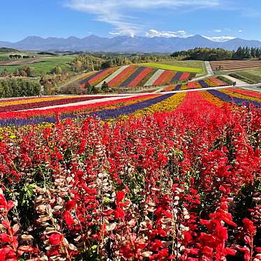
[[[5,79],[0,80],[0,98],[38,96],[40,84],[33,80]]]

